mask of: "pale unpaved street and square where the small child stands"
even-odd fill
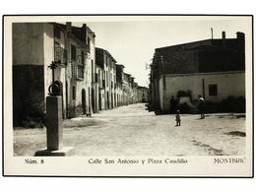
[[[64,121],[64,146],[73,156],[205,156],[243,155],[243,115],[156,115],[145,103],[100,111],[92,117]],[[14,129],[15,156],[33,156],[45,148],[46,130]]]

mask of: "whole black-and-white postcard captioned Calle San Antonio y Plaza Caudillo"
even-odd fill
[[[4,16],[5,176],[253,176],[252,16]]]

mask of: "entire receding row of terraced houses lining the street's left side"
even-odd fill
[[[62,87],[63,118],[138,101],[134,78],[96,48],[96,34],[86,24],[14,23],[12,29],[14,126],[43,121],[52,62],[58,62],[54,77]]]

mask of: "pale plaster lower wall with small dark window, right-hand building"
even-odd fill
[[[160,79],[161,110],[169,109],[170,97],[176,97],[178,91],[192,91],[192,99],[196,99],[198,95],[203,96],[203,79],[205,81],[206,100],[221,101],[227,96],[245,96],[244,72],[202,73],[172,76],[167,75],[164,100],[162,96],[162,79]],[[211,84],[218,85],[218,96],[209,96],[209,85]]]

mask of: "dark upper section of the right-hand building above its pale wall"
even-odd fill
[[[238,34],[238,32],[237,32]],[[245,69],[244,34],[156,48],[153,74],[190,74]]]

